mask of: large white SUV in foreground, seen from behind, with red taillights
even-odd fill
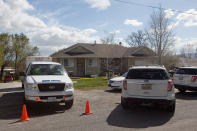
[[[121,105],[124,109],[147,104],[175,111],[173,81],[163,66],[133,66],[123,81]]]

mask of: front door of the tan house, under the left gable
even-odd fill
[[[85,58],[77,58],[77,76],[85,76]]]

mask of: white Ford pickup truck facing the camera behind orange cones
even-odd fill
[[[25,102],[65,103],[71,108],[74,100],[73,82],[64,67],[55,62],[31,62],[24,73]]]

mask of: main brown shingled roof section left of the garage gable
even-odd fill
[[[70,54],[69,52],[76,47],[82,47],[90,53],[84,54]],[[131,56],[133,53],[143,47],[124,47],[117,44],[87,44],[78,43],[68,48],[62,49],[51,55],[53,58],[64,58],[64,57],[99,57],[99,58],[121,58]],[[131,53],[132,52],[132,53]]]

